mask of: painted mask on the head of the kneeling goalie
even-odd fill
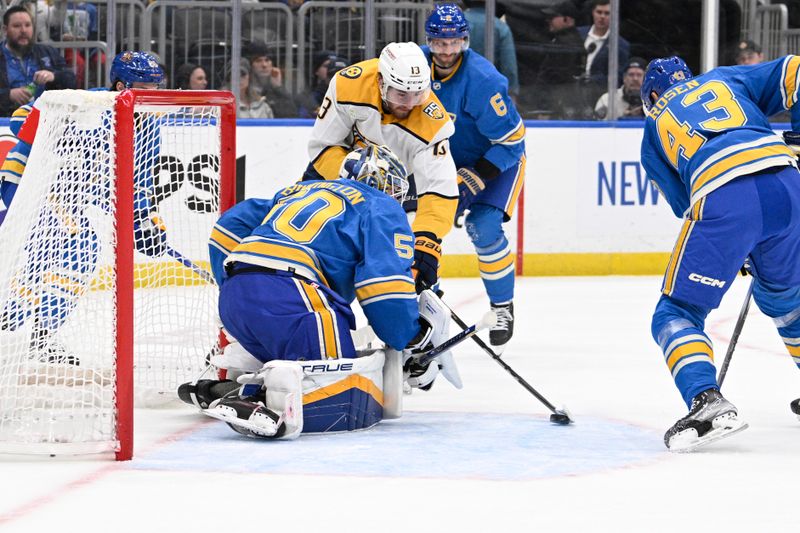
[[[400,203],[408,193],[408,171],[386,146],[369,144],[347,154],[339,178],[360,181]]]

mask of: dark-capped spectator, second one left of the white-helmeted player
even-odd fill
[[[283,71],[273,61],[274,50],[263,41],[253,41],[244,48],[242,55],[250,62],[250,84],[266,99],[275,118],[296,117],[297,106],[283,86]]]

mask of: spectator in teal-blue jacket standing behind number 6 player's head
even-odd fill
[[[469,0],[465,2],[467,10],[464,16],[469,22],[469,47],[481,55],[485,55],[484,36],[486,34],[486,2]],[[505,9],[502,4],[496,5],[494,19],[494,64],[500,74],[508,78],[508,92],[516,98],[519,94],[519,75],[517,74],[517,52],[514,48],[514,36],[511,28],[503,20]]]

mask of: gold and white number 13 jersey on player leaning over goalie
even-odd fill
[[[339,177],[347,153],[365,142],[385,144],[414,175],[417,215],[413,230],[441,239],[451,229],[458,205],[456,166],[448,139],[455,131],[439,99],[427,100],[398,119],[384,111],[378,87],[378,60],[340,70],[328,87],[311,132],[308,153],[317,174]]]

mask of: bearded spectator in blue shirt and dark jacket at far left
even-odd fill
[[[0,116],[10,116],[46,89],[74,89],[75,73],[52,46],[34,44],[33,18],[22,6],[3,14]]]

